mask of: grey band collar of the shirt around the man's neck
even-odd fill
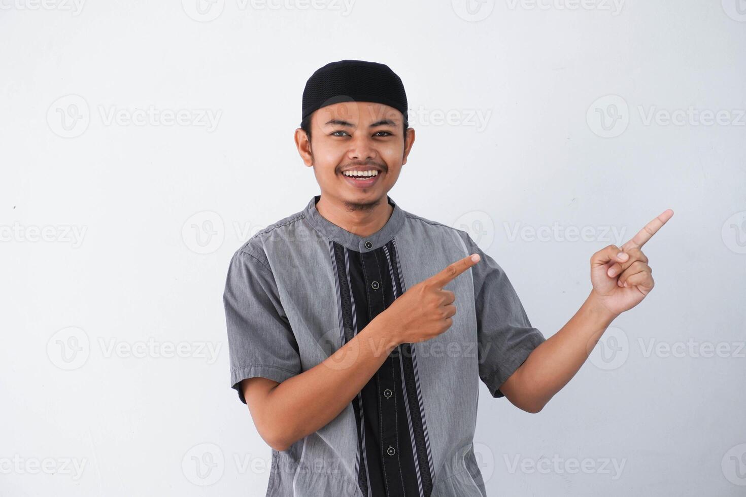
[[[404,225],[404,211],[401,210],[391,197],[386,195],[386,200],[394,207],[389,221],[381,229],[370,236],[362,237],[333,224],[316,210],[316,202],[321,195],[314,195],[304,209],[306,219],[322,235],[330,240],[336,241],[348,249],[358,252],[370,252],[387,244],[399,232]]]

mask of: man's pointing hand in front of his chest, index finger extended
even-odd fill
[[[456,314],[456,294],[443,287],[479,259],[479,254],[474,253],[448,265],[405,291],[379,314],[392,324],[397,345],[429,340],[451,327],[451,316]]]

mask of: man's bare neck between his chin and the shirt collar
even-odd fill
[[[316,210],[327,221],[365,238],[377,232],[394,212],[386,196],[373,203],[351,203],[322,194]]]

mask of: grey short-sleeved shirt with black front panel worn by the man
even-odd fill
[[[545,337],[466,231],[387,197],[389,220],[360,237],[320,215],[319,198],[231,259],[223,300],[231,387],[244,403],[243,379],[283,382],[316,366],[409,286],[470,253],[481,259],[445,286],[456,295],[451,328],[398,346],[336,418],[272,449],[266,495],[486,496],[472,445],[478,379],[503,396],[500,385]]]

